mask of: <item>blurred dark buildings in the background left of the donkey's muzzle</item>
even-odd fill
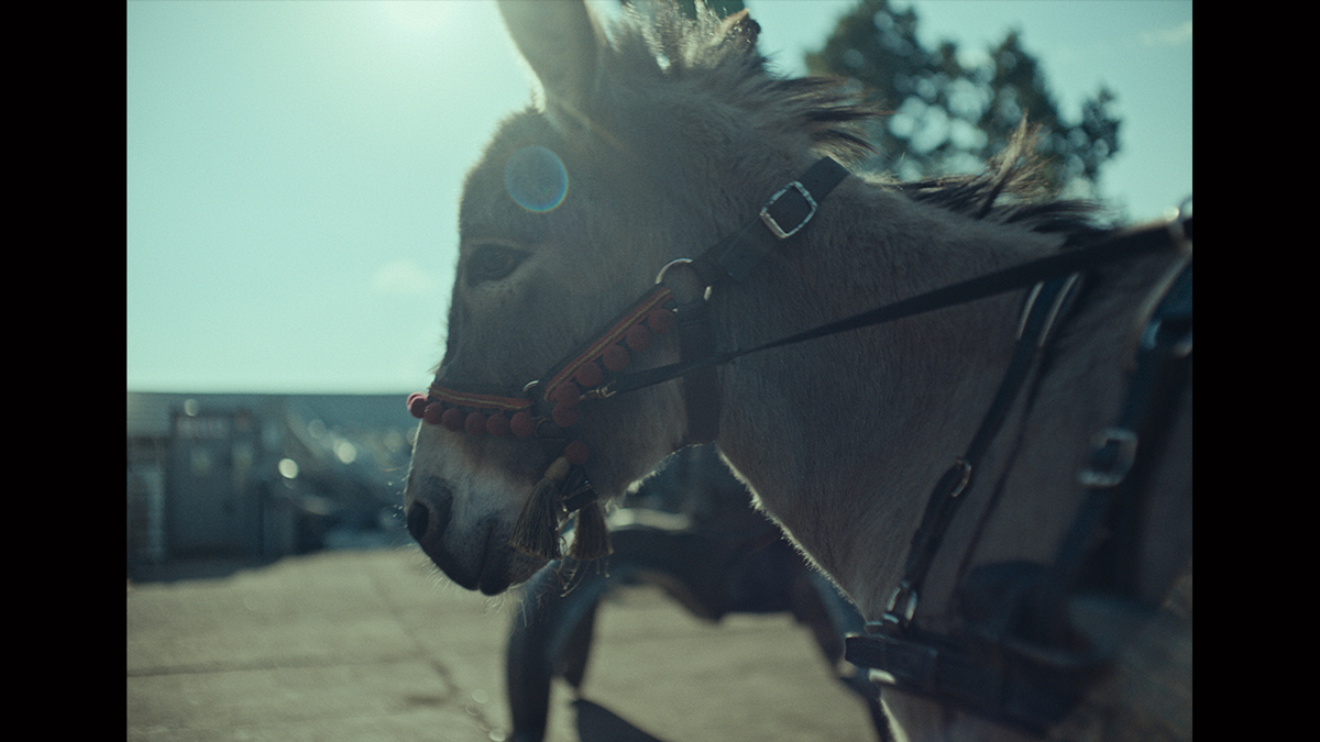
[[[128,392],[128,572],[400,540],[403,395]]]

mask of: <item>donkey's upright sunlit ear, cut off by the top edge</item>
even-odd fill
[[[581,111],[595,81],[601,45],[586,4],[500,0],[499,9],[513,44],[541,81],[546,108]]]

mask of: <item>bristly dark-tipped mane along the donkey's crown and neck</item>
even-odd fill
[[[747,110],[774,108],[808,133],[813,148],[845,162],[875,154],[866,124],[883,119],[875,103],[863,100],[855,86],[825,77],[783,78],[770,59],[756,51],[760,26],[739,12],[721,18],[704,3],[697,17],[669,3],[626,5],[624,18],[610,29],[612,53],[623,75],[697,79],[723,100]],[[912,201],[1035,232],[1060,234],[1072,247],[1093,239],[1106,227],[1097,223],[1101,205],[1059,199],[1041,185],[1045,165],[1038,143],[1039,127],[1026,118],[983,172],[950,174],[886,186]]]

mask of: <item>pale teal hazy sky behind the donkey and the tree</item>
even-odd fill
[[[612,1],[612,0],[606,0]],[[853,0],[744,0],[803,74]],[[1192,193],[1191,0],[912,0],[981,53],[1018,29],[1067,118],[1106,84],[1100,191]],[[532,82],[478,0],[128,0],[128,391],[400,393],[440,360],[462,178]]]

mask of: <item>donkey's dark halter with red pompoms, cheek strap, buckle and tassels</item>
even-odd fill
[[[545,560],[560,558],[560,523],[577,512],[570,556],[586,560],[611,552],[603,512],[585,471],[591,452],[573,432],[578,404],[618,393],[620,388],[614,382],[624,379],[622,372],[632,354],[644,353],[653,335],[675,327],[680,363],[710,359],[714,346],[705,305],[710,287],[725,280],[744,280],[779,242],[792,238],[810,222],[820,201],[846,176],[842,165],[824,157],[800,178],[779,189],[741,230],[696,259],[665,264],[656,276],[655,288],[597,333],[595,339],[556,363],[544,376],[546,382],[529,382],[521,391],[511,391],[442,386],[437,376],[426,393],[409,395],[408,411],[413,417],[470,436],[535,437],[553,457],[513,528],[512,544],[517,549]],[[696,271],[706,284],[705,296],[684,305],[678,305],[673,292],[664,285],[668,272],[680,265]],[[719,425],[714,364],[694,363],[661,380],[677,376],[684,378],[688,442],[713,441]],[[655,383],[660,380],[645,386]],[[628,391],[642,388],[635,382],[626,387]]]

